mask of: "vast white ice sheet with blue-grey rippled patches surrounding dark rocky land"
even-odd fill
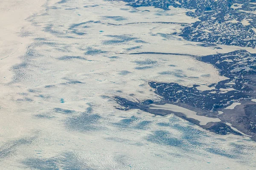
[[[159,1],[156,7],[167,3]],[[238,63],[253,59],[244,51],[247,58],[237,57],[230,64],[232,74],[219,74],[212,63],[198,60],[255,51],[250,48],[254,39],[243,37],[246,31],[253,34],[253,20],[248,20],[253,14],[243,13],[250,14],[250,25],[243,22],[246,27],[228,23],[235,31],[234,26],[241,26],[241,38],[233,42],[238,46],[227,46],[232,43],[218,41],[222,35],[209,32],[215,29],[208,29],[212,24],[197,23],[202,19],[192,16],[201,15],[201,8],[180,4],[183,1],[164,10],[143,3],[130,4],[133,8],[122,1],[3,0],[0,169],[254,170],[256,144],[248,136],[218,135],[173,114],[114,107],[113,96],[160,101],[148,82],[175,83],[194,91],[198,89],[192,85],[228,83],[230,75],[235,79],[239,71],[253,69]],[[250,6],[233,8],[250,11]],[[208,31],[197,34],[195,29]],[[183,39],[179,35],[184,32],[193,37]],[[221,45],[195,42],[208,34],[212,39],[202,42]]]

